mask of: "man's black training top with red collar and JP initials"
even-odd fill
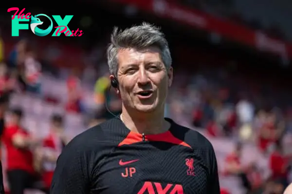
[[[219,194],[211,143],[171,123],[141,135],[118,118],[77,135],[57,160],[52,194]]]

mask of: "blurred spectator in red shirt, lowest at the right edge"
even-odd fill
[[[272,180],[281,181],[284,188],[288,186],[289,158],[284,156],[281,143],[276,142],[276,148],[269,159],[270,169],[272,171]]]

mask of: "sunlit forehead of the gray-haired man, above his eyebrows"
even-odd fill
[[[119,67],[161,61],[161,50],[157,47],[146,49],[127,48],[118,51]]]

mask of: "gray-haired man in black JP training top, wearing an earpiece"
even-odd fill
[[[75,137],[57,161],[53,194],[219,194],[215,153],[199,132],[164,118],[168,43],[143,23],[114,29],[111,85],[122,113]]]

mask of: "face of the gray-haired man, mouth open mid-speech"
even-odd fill
[[[118,92],[123,106],[143,113],[164,110],[168,87],[172,83],[172,68],[166,70],[160,49],[121,49],[118,64]]]

